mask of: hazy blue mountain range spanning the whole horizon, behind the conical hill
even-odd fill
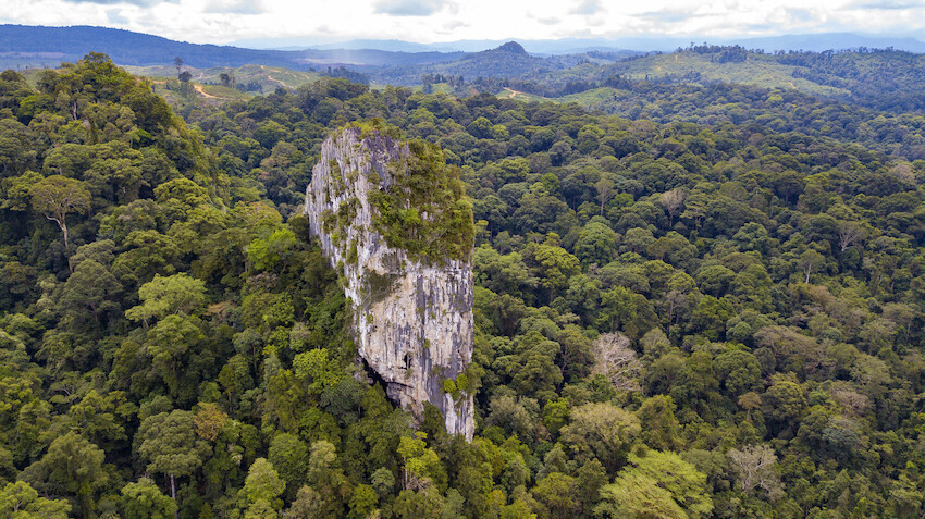
[[[109,54],[124,65],[157,65],[172,63],[180,57],[195,67],[240,66],[259,63],[305,70],[347,65],[353,67],[428,65],[470,58],[470,54],[495,49],[507,40],[459,40],[439,44],[416,44],[400,40],[358,39],[320,41],[299,38],[239,41],[237,46],[198,45],[174,41],[130,30],[74,26],[42,27],[0,25],[0,64],[4,66],[53,66],[62,61],[75,61],[87,52]],[[699,38],[564,38],[557,40],[519,40],[532,55],[582,54],[590,51],[670,51],[700,44]],[[717,45],[742,45],[750,49],[775,50],[843,50],[892,47],[897,50],[925,52],[925,42],[911,37],[884,37],[856,34],[786,35],[763,38],[710,39]],[[249,47],[242,47],[247,44]],[[301,44],[312,44],[304,48]],[[255,48],[262,47],[262,48]],[[269,47],[275,47],[271,49]],[[284,48],[285,50],[281,50]]]

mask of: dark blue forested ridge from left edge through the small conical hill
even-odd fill
[[[77,61],[88,52],[108,54],[126,66],[172,65],[181,58],[195,69],[238,67],[245,64],[296,71],[346,66],[381,84],[412,86],[425,74],[465,77],[520,77],[562,71],[588,63],[587,54],[530,54],[516,41],[479,52],[397,52],[379,49],[259,50],[231,46],[196,45],[159,36],[102,27],[32,27],[0,25],[0,69],[57,66]],[[622,51],[626,52],[626,51]],[[634,55],[614,53],[609,61]],[[363,81],[362,76],[354,76]]]

